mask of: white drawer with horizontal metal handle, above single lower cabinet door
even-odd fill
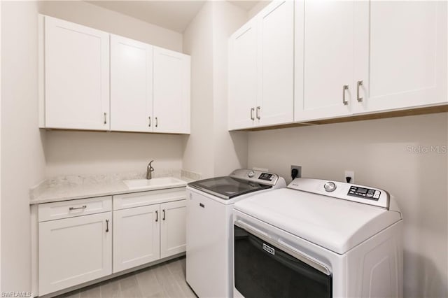
[[[40,204],[38,206],[39,222],[73,218],[74,216],[102,213],[112,210],[112,197],[96,197]]]

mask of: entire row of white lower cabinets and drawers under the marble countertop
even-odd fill
[[[40,204],[37,213],[39,296],[186,251],[185,187]]]

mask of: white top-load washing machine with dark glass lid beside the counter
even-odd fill
[[[198,297],[232,297],[233,206],[280,187],[276,174],[248,169],[187,185],[186,280]]]

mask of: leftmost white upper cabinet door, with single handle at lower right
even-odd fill
[[[45,17],[45,127],[109,129],[109,34]]]

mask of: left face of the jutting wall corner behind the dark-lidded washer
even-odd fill
[[[213,142],[213,3],[206,2],[183,31],[183,49],[191,55],[191,135],[186,139],[183,169],[214,174]]]

